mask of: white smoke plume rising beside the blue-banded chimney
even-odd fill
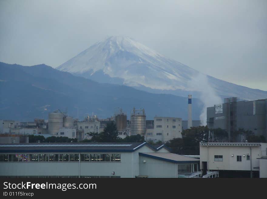
[[[207,75],[199,73],[191,81],[188,82],[188,87],[191,91],[200,92],[200,100],[203,102],[203,108],[199,119],[201,125],[207,125],[207,107],[214,106],[215,104],[222,104],[222,99],[215,93],[214,88],[208,82]],[[194,96],[192,96],[194,98]]]

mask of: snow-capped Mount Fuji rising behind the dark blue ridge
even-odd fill
[[[108,37],[56,69],[101,83],[127,85],[151,93],[202,98],[207,106],[225,97],[267,98],[267,91],[247,88],[202,74],[130,37]],[[206,102],[205,102],[206,101]]]

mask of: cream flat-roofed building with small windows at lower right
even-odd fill
[[[267,143],[201,142],[200,169],[220,177],[267,177]]]

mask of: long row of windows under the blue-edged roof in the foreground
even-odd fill
[[[120,154],[1,154],[0,162],[120,162]]]

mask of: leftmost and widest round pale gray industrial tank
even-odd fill
[[[56,134],[63,127],[63,113],[54,111],[48,114],[48,133]]]

